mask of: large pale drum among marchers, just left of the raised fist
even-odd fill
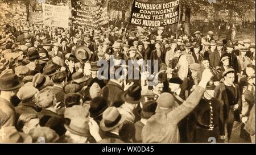
[[[192,55],[185,54],[181,55],[178,61],[178,71],[177,74],[180,79],[184,80],[188,76],[189,65],[195,63],[195,59]]]

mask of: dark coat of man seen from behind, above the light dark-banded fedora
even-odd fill
[[[110,106],[119,107],[123,103],[121,94],[123,88],[115,82],[109,81],[109,83],[102,88],[102,96],[110,101]]]

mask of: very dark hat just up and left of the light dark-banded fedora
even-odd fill
[[[90,117],[91,118],[97,118],[98,116],[100,116],[105,110],[106,108],[108,108],[110,105],[110,102],[108,100],[106,100],[104,97],[96,97],[93,98],[90,101]]]

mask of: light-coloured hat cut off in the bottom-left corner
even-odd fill
[[[1,133],[5,133],[0,137],[0,143],[32,143],[32,137],[23,132],[18,132],[14,126],[2,127]]]

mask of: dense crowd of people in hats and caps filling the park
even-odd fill
[[[0,143],[255,143],[255,44],[214,34],[1,21]]]

